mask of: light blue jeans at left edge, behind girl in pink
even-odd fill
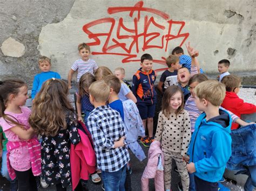
[[[3,151],[1,174],[4,178],[6,178],[7,180],[10,181],[10,191],[16,191],[16,190],[18,190],[18,181],[17,181],[17,179],[11,180],[11,178],[9,176],[9,172],[8,172],[8,169],[7,169],[6,155],[7,155],[7,151]]]

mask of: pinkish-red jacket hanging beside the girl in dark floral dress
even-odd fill
[[[81,125],[82,122],[79,123]],[[82,126],[83,129],[80,129]],[[85,125],[82,126],[78,128],[80,142],[77,145],[71,144],[70,149],[72,190],[75,190],[80,179],[88,180],[89,175],[96,171],[96,155],[91,135]]]

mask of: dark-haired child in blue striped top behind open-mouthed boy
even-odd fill
[[[184,54],[183,48],[181,48],[180,46],[175,47],[172,51],[172,55],[179,56],[179,64],[187,68],[190,72],[192,60],[190,56]],[[197,73],[204,73],[203,69],[201,68],[198,68],[197,70]]]

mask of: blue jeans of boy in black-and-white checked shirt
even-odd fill
[[[126,165],[116,172],[102,171],[105,191],[125,191]]]

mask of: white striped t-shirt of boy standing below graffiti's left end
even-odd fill
[[[71,67],[71,69],[74,71],[78,70],[77,71],[77,82],[79,82],[80,77],[83,74],[85,74],[87,72],[93,74],[93,71],[96,70],[97,68],[98,68],[98,65],[95,62],[95,60],[93,60],[93,59],[89,59],[87,61],[84,61],[82,59],[76,60]]]

